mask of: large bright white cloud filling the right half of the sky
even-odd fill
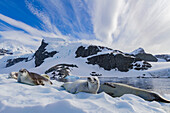
[[[113,48],[169,53],[169,0],[95,0],[92,7],[96,37]],[[159,48],[158,48],[159,47]]]

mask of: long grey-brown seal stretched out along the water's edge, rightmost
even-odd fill
[[[122,84],[122,83],[106,82],[101,85],[100,90],[104,91],[105,93],[109,94],[112,97],[120,97],[124,94],[134,94],[134,95],[139,96],[147,101],[170,103],[169,100],[166,100],[165,98],[161,97],[160,95],[156,94],[155,92],[132,87],[132,86]]]

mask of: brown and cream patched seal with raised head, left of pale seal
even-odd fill
[[[18,82],[29,85],[52,85],[52,82],[47,78],[26,69],[21,69],[18,72]]]

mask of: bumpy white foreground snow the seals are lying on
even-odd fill
[[[0,75],[0,113],[168,113],[170,104],[148,102],[126,94],[112,98],[106,93],[70,94],[52,81],[52,86],[29,86]],[[164,95],[170,99],[170,95]]]

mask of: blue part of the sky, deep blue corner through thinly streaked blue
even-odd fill
[[[59,2],[63,8],[60,12],[57,8],[55,8],[55,4],[50,3],[50,1],[48,2],[49,3],[46,3],[46,1],[38,2],[34,0],[1,0],[0,13],[17,21],[26,23],[34,28],[54,32],[53,28],[46,28],[46,24],[48,23],[43,23],[43,20],[40,19],[41,17],[37,16],[38,14],[36,14],[36,11],[39,11],[38,13],[44,13],[45,16],[48,16],[50,19],[50,24],[57,27],[63,35],[69,34],[79,38],[76,33],[93,33],[91,19],[85,10],[85,7],[79,9],[81,12],[77,13],[81,13],[81,17],[77,18],[76,12],[70,3],[70,0],[63,0],[62,2]],[[0,23],[12,29],[21,30],[1,20]]]

